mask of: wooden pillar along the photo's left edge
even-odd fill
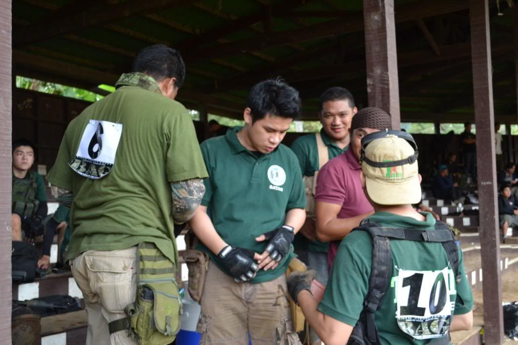
[[[0,0],[0,338],[11,343],[11,0]]]

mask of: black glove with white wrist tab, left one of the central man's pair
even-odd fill
[[[255,277],[259,266],[253,261],[254,252],[249,249],[226,246],[218,254],[223,267],[237,282],[249,281]]]

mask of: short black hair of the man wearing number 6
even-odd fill
[[[180,88],[185,81],[185,64],[176,49],[155,44],[142,49],[133,62],[132,72],[146,73],[157,82],[165,78],[176,78],[175,86]]]

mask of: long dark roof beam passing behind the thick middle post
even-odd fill
[[[467,0],[437,0],[434,2],[419,2],[402,5],[396,10],[396,23],[415,20],[418,18],[433,17],[439,14],[465,10],[469,7]],[[261,20],[262,13],[257,14],[257,20]],[[185,56],[186,61],[196,62],[212,58],[220,58],[229,55],[240,54],[248,51],[261,51],[264,49],[284,46],[289,43],[311,41],[320,38],[344,35],[363,31],[362,16],[351,16],[348,20],[335,20],[325,23],[313,24],[303,28],[276,32],[272,35],[246,39],[241,41],[220,44],[218,49],[213,47],[192,49],[196,44],[191,44],[190,53]],[[197,42],[199,43],[199,42]]]

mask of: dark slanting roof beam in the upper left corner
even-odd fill
[[[22,47],[93,26],[110,24],[121,19],[142,16],[142,14],[179,7],[188,3],[190,1],[186,0],[130,0],[116,5],[108,5],[90,12],[85,11],[75,14],[75,16],[67,16],[59,21],[23,28],[13,33],[13,46]]]

